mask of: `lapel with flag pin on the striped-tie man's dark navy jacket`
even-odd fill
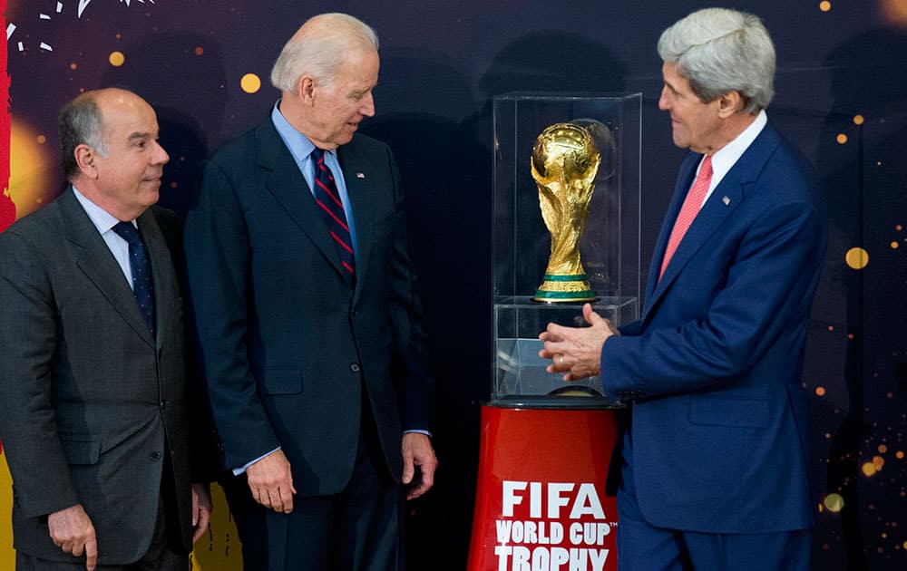
[[[346,194],[353,209],[353,223],[356,225],[356,291],[354,303],[365,283],[368,258],[371,256],[374,212],[372,208],[372,177],[365,160],[356,152],[356,139],[339,148],[337,160],[343,170]],[[361,177],[360,177],[361,175]]]

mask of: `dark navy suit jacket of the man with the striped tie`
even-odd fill
[[[201,365],[227,468],[282,447],[301,496],[349,480],[362,407],[400,478],[404,429],[428,428],[430,377],[390,150],[338,150],[356,222],[356,287],[270,117],[204,169],[185,249]]]

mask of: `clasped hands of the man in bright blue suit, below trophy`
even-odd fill
[[[582,306],[582,316],[589,327],[564,327],[548,324],[539,339],[545,348],[539,352],[542,359],[551,359],[549,373],[567,373],[564,381],[576,381],[601,373],[601,347],[614,334],[619,334],[610,321],[592,311],[589,304]]]

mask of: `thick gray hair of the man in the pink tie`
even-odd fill
[[[658,39],[658,55],[703,102],[739,92],[744,112],[765,109],[775,94],[775,45],[755,15],[706,8],[679,20]]]

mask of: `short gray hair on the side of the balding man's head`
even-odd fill
[[[75,161],[75,148],[88,145],[103,158],[107,157],[107,141],[104,140],[104,123],[101,109],[93,92],[79,95],[66,103],[60,111],[60,150],[63,155],[63,173],[67,179],[79,172]]]

